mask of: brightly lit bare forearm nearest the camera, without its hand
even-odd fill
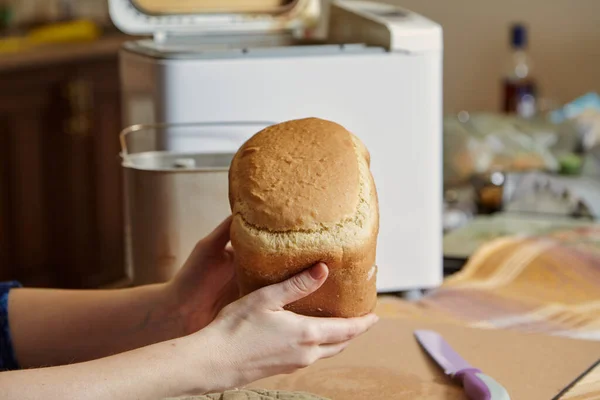
[[[80,364],[0,373],[5,400],[151,400],[213,391],[219,376],[211,346],[195,338],[200,351],[183,339],[158,343],[123,354]],[[190,342],[190,340],[187,340]],[[192,376],[193,374],[193,376]]]

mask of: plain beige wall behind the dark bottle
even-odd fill
[[[390,1],[388,1],[390,2]],[[444,109],[503,109],[502,78],[511,73],[514,24],[527,29],[527,52],[543,108],[600,87],[598,2],[582,0],[397,1],[444,28]]]

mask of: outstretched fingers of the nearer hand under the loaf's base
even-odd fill
[[[334,344],[358,337],[377,323],[375,314],[358,318],[304,317],[303,340],[307,344]]]

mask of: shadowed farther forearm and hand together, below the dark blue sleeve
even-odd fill
[[[15,289],[9,323],[24,367],[89,361],[189,335],[238,298],[227,218],[167,283],[119,290]],[[39,329],[43,326],[44,329]]]

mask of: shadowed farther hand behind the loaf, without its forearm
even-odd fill
[[[200,240],[179,273],[167,284],[167,292],[176,299],[176,313],[187,335],[199,331],[223,307],[239,298],[229,243],[231,217]]]

